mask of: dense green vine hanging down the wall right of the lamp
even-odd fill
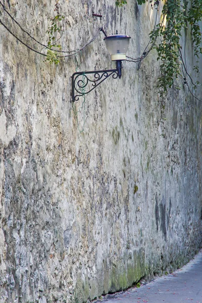
[[[123,6],[120,0],[117,6]],[[160,1],[137,0],[138,5],[149,2],[152,9],[159,9]],[[202,54],[201,32],[198,22],[202,19],[202,0],[192,0],[192,2],[181,0],[167,0],[163,6],[160,23],[150,32],[150,43],[157,49],[158,60],[161,60],[161,76],[158,78],[158,86],[163,92],[171,87],[174,78],[181,74],[182,55],[180,49],[180,36],[183,30],[191,26],[192,43],[196,58]],[[157,39],[160,38],[160,39]],[[160,41],[160,42],[157,42]],[[197,62],[196,62],[197,63]],[[198,71],[198,66],[193,67]],[[183,75],[186,83],[186,73]],[[198,82],[193,83],[193,87]]]

